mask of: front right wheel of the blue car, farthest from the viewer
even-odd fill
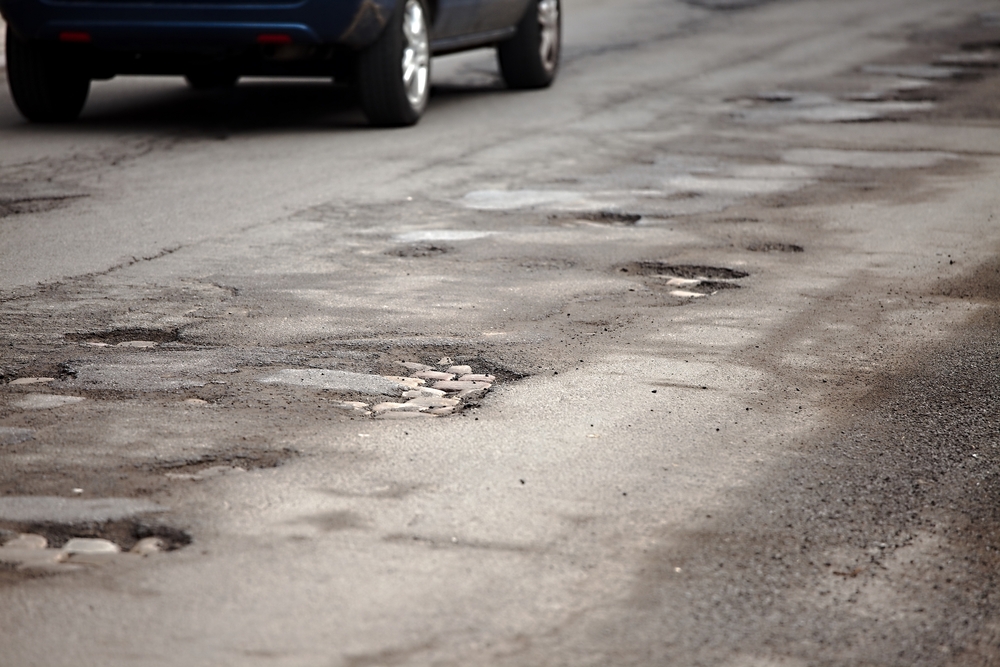
[[[562,7],[559,0],[531,0],[517,33],[497,45],[500,74],[508,88],[547,88],[559,71]]]

